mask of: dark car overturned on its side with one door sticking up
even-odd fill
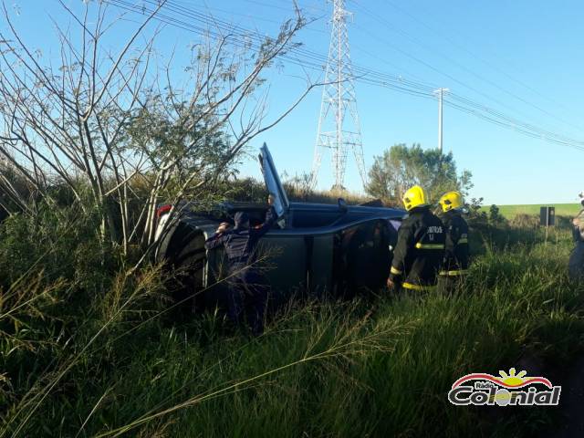
[[[258,263],[272,297],[352,297],[383,287],[405,212],[375,204],[348,205],[342,199],[338,204],[290,203],[266,145],[258,159],[277,215],[258,247]],[[176,299],[194,297],[196,308],[222,307],[228,281],[224,252],[206,251],[204,242],[222,222],[233,224],[235,212],[247,213],[253,226],[264,221],[267,208],[267,203],[222,203],[214,212],[201,212],[187,203],[170,223],[172,208],[162,205],[157,258],[180,273]]]

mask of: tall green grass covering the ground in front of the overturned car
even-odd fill
[[[567,385],[582,351],[568,233],[506,234],[483,234],[453,296],[291,303],[258,338],[217,313],[175,323],[157,266],[118,266],[89,294],[83,266],[47,276],[39,262],[2,295],[0,436],[531,436],[557,412],[446,400],[469,372]]]

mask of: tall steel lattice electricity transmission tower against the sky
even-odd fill
[[[345,0],[331,1],[334,8],[325,74],[326,85],[322,90],[310,184],[312,187],[317,185],[322,153],[325,150],[330,150],[335,175],[335,183],[332,188],[333,190],[342,190],[349,149],[357,162],[363,186],[367,182],[367,175],[363,160],[357,99],[355,98],[349,54],[347,17],[350,16],[350,13],[345,10]]]

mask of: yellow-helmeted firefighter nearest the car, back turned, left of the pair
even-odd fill
[[[404,193],[402,201],[408,216],[398,230],[387,286],[396,292],[433,290],[443,261],[443,223],[430,211],[419,185]]]

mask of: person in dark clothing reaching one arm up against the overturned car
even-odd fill
[[[245,212],[235,214],[235,226],[219,225],[213,236],[204,244],[206,249],[223,246],[229,266],[229,285],[227,305],[228,316],[237,325],[245,313],[247,323],[255,335],[264,330],[267,291],[255,266],[255,249],[259,239],[267,233],[276,221],[276,212],[272,207],[273,198],[268,198],[270,208],[263,224],[250,227],[249,216]]]

